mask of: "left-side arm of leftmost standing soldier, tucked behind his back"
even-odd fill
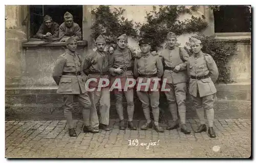
[[[62,72],[65,64],[66,64],[66,58],[64,58],[62,55],[59,56],[53,68],[53,79],[57,85],[59,85],[59,81],[62,76]]]

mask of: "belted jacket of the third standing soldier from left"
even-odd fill
[[[134,59],[136,57],[136,53],[133,49],[124,48],[123,50],[117,48],[112,55],[109,57],[109,72],[110,72],[110,85],[119,78],[121,80],[122,89],[125,85],[126,78],[134,78],[133,77],[133,69],[131,71],[125,71],[122,74],[114,73],[114,69],[118,67],[132,67],[134,66]],[[129,87],[132,88],[132,87]]]

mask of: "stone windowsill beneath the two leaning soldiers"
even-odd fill
[[[27,47],[41,47],[41,46],[65,46],[66,43],[65,42],[51,42],[48,44],[42,44],[40,45],[40,43],[42,43],[44,41],[28,41],[22,44],[22,46],[24,48]],[[82,41],[77,41],[77,45],[78,46],[86,46],[88,44],[88,42],[86,40],[82,40]]]

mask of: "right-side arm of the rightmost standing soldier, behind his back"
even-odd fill
[[[214,58],[212,58],[209,54],[204,54],[204,57],[206,60],[207,67],[210,71],[210,78],[212,82],[215,83],[219,77],[218,67],[214,61]]]

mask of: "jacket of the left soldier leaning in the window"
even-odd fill
[[[47,38],[58,38],[59,25],[56,22],[53,22],[51,28],[47,28],[47,26],[45,24],[42,24],[36,33],[36,37],[42,38],[42,36],[47,34],[48,32],[50,32],[52,34],[52,36],[47,37]]]

